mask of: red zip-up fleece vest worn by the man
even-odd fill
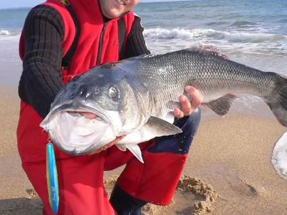
[[[75,54],[72,58],[69,74],[67,74],[66,71],[63,71],[63,75],[76,75],[84,73],[96,65],[100,34],[104,23],[97,0],[69,0],[69,2],[73,6],[80,24],[80,37]],[[63,3],[59,0],[47,0],[43,4],[54,7],[62,15],[65,28],[62,48],[65,55],[75,36],[75,25],[73,19]],[[127,38],[134,22],[134,13],[130,11],[128,14],[125,14],[123,18],[126,25]],[[118,18],[109,21],[105,28],[102,37],[101,57],[99,63],[117,61],[119,58],[117,20]],[[19,43],[19,54],[21,59],[23,59],[23,50],[23,36],[21,35]]]

